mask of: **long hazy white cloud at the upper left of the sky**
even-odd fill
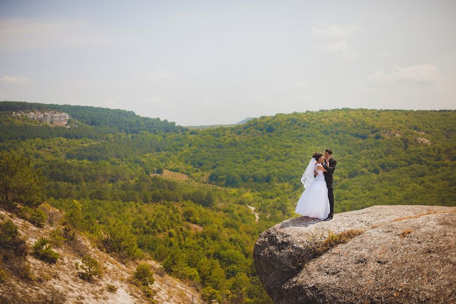
[[[8,51],[112,44],[92,24],[78,20],[0,20],[0,48]]]

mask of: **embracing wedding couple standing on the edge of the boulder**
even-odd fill
[[[333,173],[337,162],[332,154],[331,149],[326,149],[324,155],[317,152],[312,155],[301,177],[305,190],[299,198],[295,213],[323,220],[333,218]]]

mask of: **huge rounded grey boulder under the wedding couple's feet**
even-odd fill
[[[315,254],[330,231],[353,229],[361,234]],[[455,303],[455,237],[456,207],[374,206],[276,224],[254,262],[274,303]]]

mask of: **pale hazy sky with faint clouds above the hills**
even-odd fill
[[[179,125],[455,109],[456,1],[0,0],[0,100]]]

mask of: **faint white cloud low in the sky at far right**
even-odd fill
[[[393,66],[389,71],[377,71],[369,76],[369,81],[375,83],[433,83],[437,80],[438,68],[432,64]]]

